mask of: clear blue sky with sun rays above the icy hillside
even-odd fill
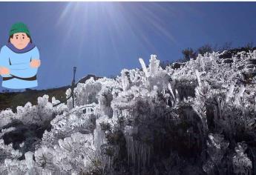
[[[0,45],[24,22],[39,47],[36,89],[70,84],[87,74],[177,60],[186,47],[256,43],[255,2],[0,2]],[[1,90],[1,89],[0,89]]]

